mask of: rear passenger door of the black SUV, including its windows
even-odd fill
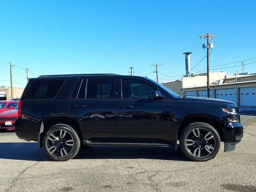
[[[116,78],[80,78],[70,99],[84,140],[114,140],[117,134]]]

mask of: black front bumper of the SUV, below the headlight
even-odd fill
[[[243,138],[244,128],[240,123],[226,122],[223,129],[224,152],[234,151]]]

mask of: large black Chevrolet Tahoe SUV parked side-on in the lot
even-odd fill
[[[191,160],[214,158],[243,137],[233,102],[180,97],[139,76],[47,75],[31,78],[18,104],[16,134],[49,158],[73,158],[81,146],[175,146]]]

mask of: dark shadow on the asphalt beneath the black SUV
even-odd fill
[[[74,159],[159,159],[189,161],[174,147],[125,147],[92,146],[81,147]],[[37,142],[0,143],[0,159],[51,161]]]

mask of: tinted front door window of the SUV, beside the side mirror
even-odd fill
[[[156,90],[156,88],[141,80],[122,79],[123,99],[152,99],[152,92]]]

